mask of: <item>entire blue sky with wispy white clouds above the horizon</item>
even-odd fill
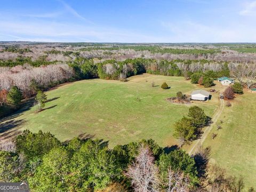
[[[256,42],[256,1],[1,0],[0,41]]]

